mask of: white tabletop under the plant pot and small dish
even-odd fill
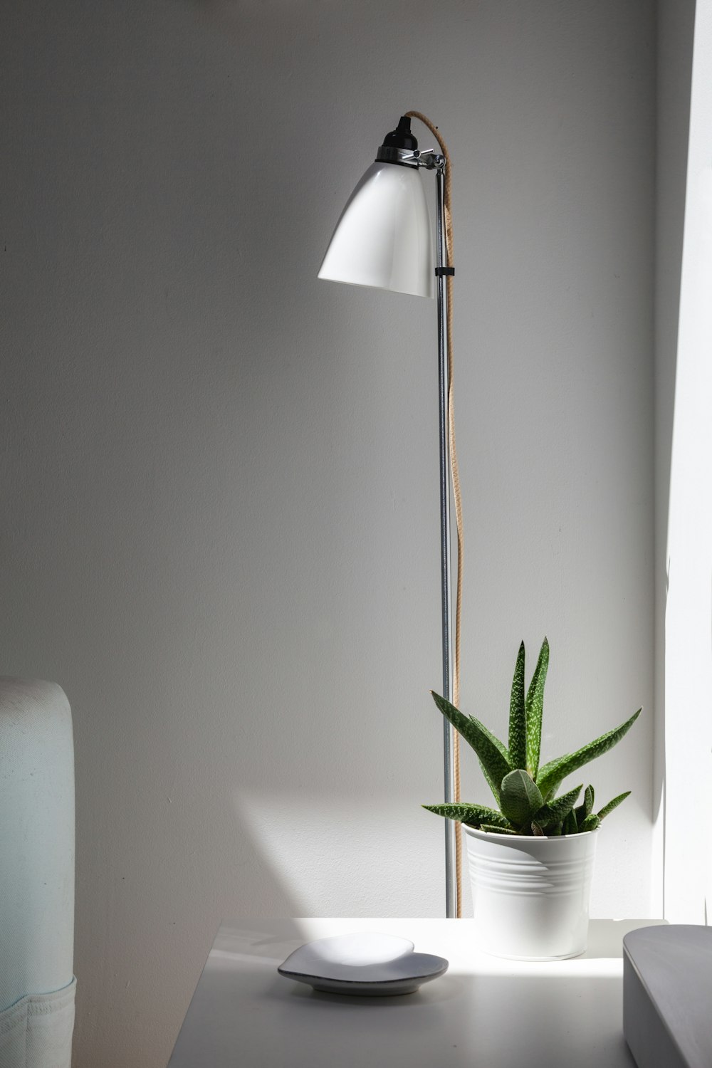
[[[634,1068],[622,1035],[622,937],[592,920],[583,957],[479,953],[469,920],[255,920],[221,926],[169,1068]],[[314,938],[410,938],[449,970],[414,994],[317,993],[276,968]]]

